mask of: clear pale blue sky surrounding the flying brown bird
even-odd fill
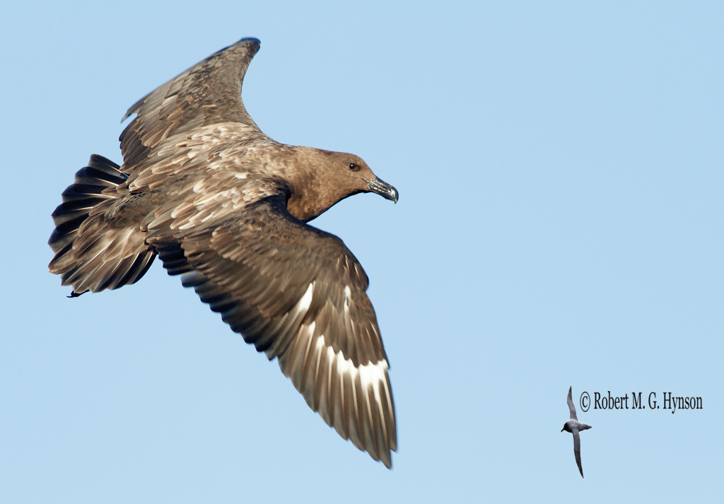
[[[724,7],[718,2],[29,3],[1,14],[0,502],[720,498]],[[154,264],[68,299],[51,212],[119,119],[261,39],[244,101],[400,191],[313,222],[371,279],[387,471]],[[594,411],[565,395],[701,396]]]

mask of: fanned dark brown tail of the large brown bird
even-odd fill
[[[93,154],[53,212],[48,244],[56,254],[48,267],[73,286],[72,296],[135,283],[153,263],[156,252],[138,225],[114,227],[107,219],[106,210],[121,197],[113,189],[126,179],[117,164]]]

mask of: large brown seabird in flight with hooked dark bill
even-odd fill
[[[358,156],[261,133],[241,101],[258,49],[244,38],[128,110],[123,166],[90,156],[63,192],[49,269],[75,297],[138,282],[158,255],[389,468],[395,406],[369,280],[340,238],[307,222],[357,193],[397,202],[397,190]]]

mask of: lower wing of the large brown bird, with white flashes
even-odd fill
[[[247,343],[278,357],[309,407],[340,436],[390,467],[395,408],[362,266],[342,240],[292,217],[284,196],[226,214],[222,207],[234,206],[233,198],[206,203],[202,219],[184,209],[169,213],[175,220],[164,231],[173,234],[167,243],[151,224],[148,243],[164,267],[183,274],[185,287]]]

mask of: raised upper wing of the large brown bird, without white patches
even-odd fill
[[[146,159],[164,140],[224,122],[245,125],[251,138],[264,133],[246,112],[241,86],[256,51],[256,38],[243,38],[212,54],[136,102],[123,119],[138,114],[121,134],[123,171]]]

